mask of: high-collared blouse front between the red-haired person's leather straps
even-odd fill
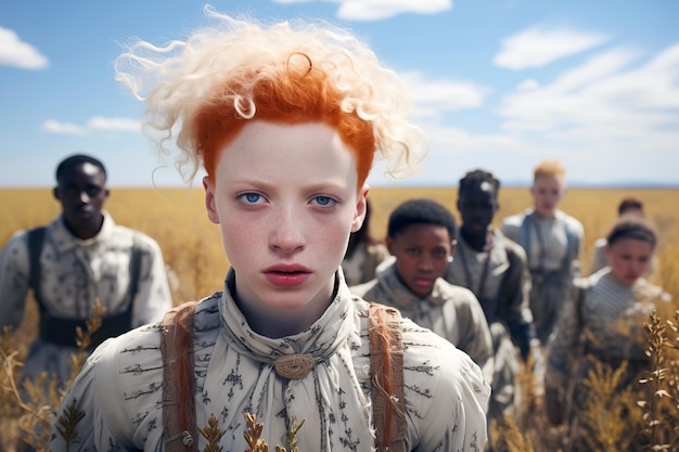
[[[231,282],[231,279],[227,281]],[[240,400],[240,405],[225,404],[223,400],[205,391],[209,399],[204,411],[207,416],[219,416],[228,410],[232,415],[220,421],[230,425],[241,423],[244,411],[255,413],[258,422],[265,424],[266,436],[285,448],[289,447],[283,442],[287,424],[305,419],[303,428],[310,435],[305,436],[307,440],[302,450],[369,450],[373,442],[368,428],[370,403],[359,388],[349,349],[350,344],[361,340],[356,336],[355,323],[346,321],[356,315],[350,297],[335,297],[310,328],[280,339],[254,333],[234,302],[222,302],[219,308],[227,327],[221,330],[215,349],[238,353],[215,354],[205,386],[221,386],[226,391],[245,397],[233,398]],[[282,378],[274,364],[280,357],[293,354],[311,357],[316,365],[300,378]],[[249,359],[243,360],[243,357]],[[227,372],[233,372],[238,385],[212,378]],[[281,423],[280,418],[287,422]],[[207,418],[198,418],[198,425],[206,423]]]

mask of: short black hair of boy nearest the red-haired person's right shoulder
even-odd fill
[[[387,235],[392,238],[411,224],[434,224],[448,230],[451,240],[456,238],[456,220],[450,210],[433,199],[409,199],[396,207],[389,216]]]

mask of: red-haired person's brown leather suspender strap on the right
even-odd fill
[[[403,340],[400,313],[370,304],[370,377],[377,452],[405,452]]]

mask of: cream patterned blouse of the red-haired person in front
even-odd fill
[[[368,304],[351,297],[337,273],[336,295],[308,330],[278,339],[254,333],[226,289],[196,307],[194,382],[198,427],[208,417],[225,430],[225,451],[248,449],[244,412],[265,424],[261,438],[286,444],[286,429],[305,419],[298,450],[369,451],[373,443],[370,403]],[[482,451],[484,406],[489,388],[479,369],[431,332],[402,321],[406,450]],[[277,374],[280,357],[307,354],[315,365],[302,378]],[[163,451],[163,362],[159,327],[148,325],[100,346],[71,388],[69,403],[85,413],[69,451]],[[54,427],[50,449],[66,451]],[[205,439],[200,438],[198,450]]]

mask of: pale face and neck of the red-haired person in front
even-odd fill
[[[258,334],[313,324],[331,302],[349,233],[366,215],[356,158],[322,122],[253,120],[221,152],[205,205],[236,275],[236,302]]]

